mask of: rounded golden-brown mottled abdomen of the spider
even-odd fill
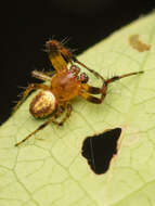
[[[42,118],[52,114],[55,108],[55,95],[49,90],[42,90],[33,99],[29,106],[29,112],[33,116]]]

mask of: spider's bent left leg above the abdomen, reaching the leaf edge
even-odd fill
[[[24,91],[22,100],[20,100],[20,101],[17,102],[17,104],[13,107],[12,113],[15,113],[16,110],[20,107],[20,105],[26,100],[26,98],[28,96],[28,94],[29,94],[33,90],[37,90],[37,89],[43,89],[43,90],[46,90],[46,89],[49,89],[49,87],[46,86],[46,85],[42,85],[42,83],[30,83],[30,85],[27,87],[27,89]]]

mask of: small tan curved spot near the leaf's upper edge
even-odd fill
[[[133,49],[138,50],[139,52],[144,52],[151,49],[150,44],[146,44],[139,39],[139,35],[130,36],[129,43]]]

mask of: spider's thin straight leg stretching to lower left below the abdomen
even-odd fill
[[[18,146],[20,144],[24,143],[26,140],[28,140],[31,136],[36,134],[38,131],[40,131],[41,129],[43,129],[44,127],[47,127],[49,124],[51,123],[55,123],[55,119],[61,116],[62,114],[62,110],[57,108],[57,112],[54,114],[54,116],[52,116],[49,120],[47,120],[46,123],[43,123],[42,125],[40,125],[35,131],[33,131],[31,133],[29,133],[25,139],[23,139],[22,141],[17,142],[15,144],[15,146]]]

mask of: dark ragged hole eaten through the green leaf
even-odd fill
[[[120,133],[121,128],[115,128],[83,141],[81,154],[96,175],[107,171],[112,157],[117,154]]]

